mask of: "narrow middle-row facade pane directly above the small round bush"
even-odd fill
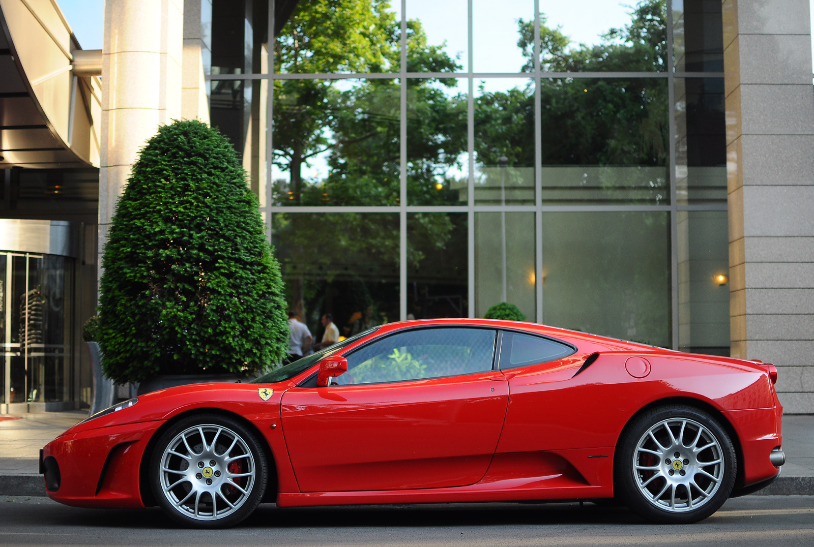
[[[533,81],[488,78],[475,86],[475,205],[533,205]]]

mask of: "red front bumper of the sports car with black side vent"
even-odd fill
[[[143,507],[142,456],[162,423],[100,427],[52,440],[42,449],[48,497],[78,507]]]

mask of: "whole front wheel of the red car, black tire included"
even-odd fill
[[[243,423],[221,414],[196,414],[173,423],[150,458],[155,501],[186,527],[240,523],[260,504],[268,484],[260,442]]]

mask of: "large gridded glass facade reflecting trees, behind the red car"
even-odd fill
[[[720,2],[220,2],[212,124],[317,337],[506,301],[729,351]]]

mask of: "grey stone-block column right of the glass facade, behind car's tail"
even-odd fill
[[[814,89],[808,0],[724,0],[732,356],[814,413]]]

